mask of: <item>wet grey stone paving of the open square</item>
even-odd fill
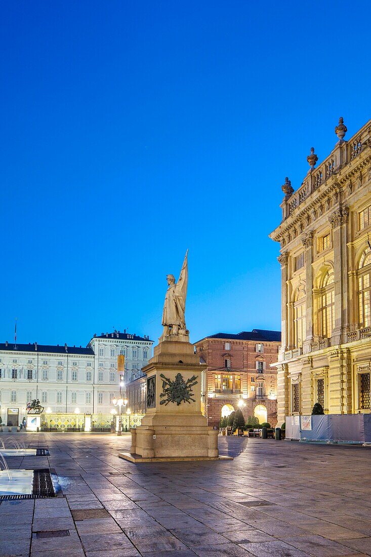
[[[134,465],[127,434],[17,439],[50,456],[9,467],[52,468],[61,493],[0,503],[3,557],[371,555],[367,448],[219,437],[235,460]],[[54,530],[70,535],[37,536]]]

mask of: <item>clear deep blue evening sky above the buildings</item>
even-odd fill
[[[370,117],[371,3],[4,1],[0,341],[280,328],[281,184]]]

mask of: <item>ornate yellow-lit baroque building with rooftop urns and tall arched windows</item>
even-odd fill
[[[280,242],[282,346],[278,422],[310,414],[371,411],[371,120],[310,166],[294,192],[285,179]]]

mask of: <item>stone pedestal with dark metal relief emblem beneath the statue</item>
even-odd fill
[[[143,371],[147,374],[147,412],[131,429],[132,462],[217,460],[218,430],[201,413],[201,373],[188,337],[165,336]],[[162,377],[163,376],[163,377]],[[181,388],[175,385],[180,384]],[[186,400],[184,400],[184,397]]]

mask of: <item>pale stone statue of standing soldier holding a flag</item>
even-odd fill
[[[180,271],[179,280],[175,283],[174,275],[167,275],[168,290],[165,296],[164,310],[162,312],[162,324],[164,326],[163,336],[188,335],[186,329],[186,297],[188,286],[188,250],[184,257],[183,267]],[[179,339],[180,340],[180,339]]]

